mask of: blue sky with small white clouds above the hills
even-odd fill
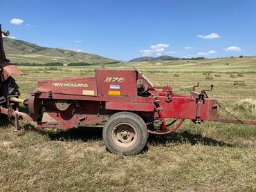
[[[1,1],[3,29],[113,59],[256,55],[256,1]]]

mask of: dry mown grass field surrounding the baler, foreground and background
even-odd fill
[[[227,65],[228,64],[228,65]],[[255,113],[234,111],[235,102],[256,100],[256,57],[205,59],[202,61],[154,61],[105,68],[135,66],[155,86],[170,84],[175,93],[189,94],[200,89],[214,91],[228,111],[241,119],[256,120]],[[39,79],[87,77],[89,67],[21,67],[15,77],[21,97],[37,87]],[[221,75],[212,80],[203,73]],[[179,74],[179,77],[174,77]],[[243,73],[244,77],[230,78]],[[246,86],[234,86],[244,80]],[[232,118],[220,112],[223,117]],[[102,128],[77,128],[67,132],[38,131],[23,122],[23,135],[1,122],[0,191],[255,191],[256,127],[205,122],[185,122],[167,137],[149,136],[147,148],[135,156],[113,155],[102,140]]]

